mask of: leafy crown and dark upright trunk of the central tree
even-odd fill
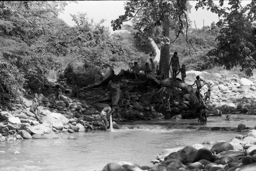
[[[152,30],[155,27],[162,28],[162,46],[160,54],[159,70],[165,74],[165,78],[169,76],[169,28],[170,19],[176,20],[179,24],[176,38],[183,33],[184,20],[186,20],[187,1],[129,1],[124,7],[125,14],[120,15],[117,19],[111,21],[113,30],[120,30],[123,22],[127,22],[138,16],[136,28],[141,30],[145,36],[151,38]],[[187,23],[187,22],[186,22]]]

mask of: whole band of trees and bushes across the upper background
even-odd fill
[[[210,69],[218,63],[227,69],[240,65],[250,73],[255,66],[254,2],[241,8],[239,1],[230,1],[230,9],[221,9],[211,1],[199,1],[197,8],[208,7],[223,19],[191,29],[187,1],[130,1],[112,26],[121,29],[129,19],[132,25],[112,35],[102,25],[104,20],[94,23],[85,13],[72,15],[74,27],[59,19],[71,2],[0,3],[0,93],[16,97],[24,89],[40,92],[50,81],[84,87],[94,83],[96,75],[104,79],[106,65],[116,73],[130,69],[134,61],[143,66],[155,55],[149,37],[167,52],[160,61],[165,70],[175,51],[187,70]],[[162,44],[163,39],[170,41]]]

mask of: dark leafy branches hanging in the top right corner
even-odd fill
[[[253,27],[256,21],[256,1],[252,0],[244,6],[239,0],[229,0],[228,7],[224,7],[224,3],[224,0],[220,0],[219,5],[212,0],[198,1],[195,7],[206,7],[223,18],[216,24],[221,28],[216,38],[219,44],[208,55],[215,56],[216,62],[227,70],[241,66],[241,71],[251,76],[256,66],[256,28]]]

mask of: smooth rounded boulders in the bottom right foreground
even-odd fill
[[[210,144],[205,147],[203,144]],[[101,171],[249,171],[256,170],[256,130],[237,135],[230,142],[203,142],[164,149],[153,166],[121,161],[108,163]]]

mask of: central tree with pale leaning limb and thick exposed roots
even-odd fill
[[[126,3],[125,14],[119,18],[112,20],[113,30],[120,30],[123,22],[127,22],[134,18],[135,28],[155,51],[154,59],[155,68],[159,65],[159,70],[164,73],[164,79],[158,79],[154,74],[147,74],[144,79],[151,80],[160,85],[158,93],[163,93],[165,89],[170,94],[175,94],[178,99],[182,99],[184,94],[189,94],[190,105],[199,106],[200,95],[188,84],[169,78],[169,60],[170,60],[170,43],[174,42],[179,34],[183,34],[184,26],[186,33],[188,28],[187,12],[189,12],[189,4],[187,1],[130,1]],[[160,28],[160,37],[162,44],[158,49],[152,37],[156,34],[156,29]],[[170,29],[176,30],[176,37],[170,38]],[[172,40],[170,40],[172,39]],[[120,73],[118,74],[120,75]],[[145,84],[143,81],[126,80],[130,84]],[[118,98],[118,97],[117,97]],[[116,101],[116,100],[115,100]],[[197,115],[197,114],[195,114]]]

